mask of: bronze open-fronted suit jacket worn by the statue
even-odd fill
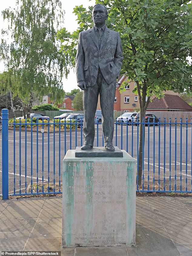
[[[99,48],[94,27],[79,34],[75,60],[77,81],[84,80],[94,86],[99,67],[108,84],[113,82],[121,71],[123,50],[119,33],[105,27]]]

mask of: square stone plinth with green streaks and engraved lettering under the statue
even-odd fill
[[[135,245],[136,161],[123,157],[63,160],[62,246]]]

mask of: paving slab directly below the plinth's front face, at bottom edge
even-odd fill
[[[75,248],[74,256],[128,256],[126,247]]]

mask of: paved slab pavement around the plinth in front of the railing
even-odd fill
[[[136,246],[61,248],[62,198],[0,200],[0,251],[63,256],[192,256],[192,197],[136,199]]]

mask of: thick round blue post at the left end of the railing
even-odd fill
[[[8,199],[8,109],[2,109],[2,199]]]

